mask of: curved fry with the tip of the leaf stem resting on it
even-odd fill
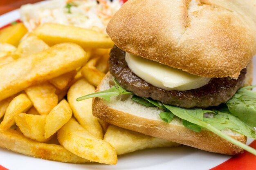
[[[94,91],[95,88],[92,85],[86,82],[85,79],[81,79],[70,87],[67,93],[67,101],[79,124],[98,139],[102,139],[101,125],[98,118],[92,115],[92,99],[76,102],[76,98],[94,93]]]

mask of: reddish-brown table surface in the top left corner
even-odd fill
[[[35,3],[42,0],[0,0],[0,15],[20,8],[22,4]]]

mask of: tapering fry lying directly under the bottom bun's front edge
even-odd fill
[[[108,126],[104,141],[109,142],[115,148],[117,155],[145,148],[174,147],[180,145],[175,142],[151,137],[114,125]]]

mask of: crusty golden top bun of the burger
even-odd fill
[[[241,0],[128,0],[107,33],[124,51],[203,77],[237,78],[256,53],[255,7]]]

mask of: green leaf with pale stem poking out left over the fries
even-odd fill
[[[112,88],[106,90],[106,91],[99,91],[96,93],[92,93],[89,95],[85,95],[82,97],[79,97],[76,99],[76,101],[82,101],[85,99],[90,99],[92,97],[102,97],[104,99],[106,99],[107,101],[110,101],[110,97],[112,96],[118,96],[118,95],[125,95],[125,94],[133,94],[131,92],[126,91],[124,88],[122,88],[120,85],[117,85],[117,82],[114,80],[115,82],[115,86],[113,86]]]

